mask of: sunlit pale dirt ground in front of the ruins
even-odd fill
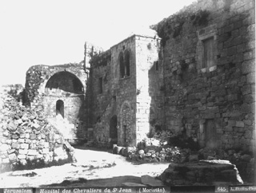
[[[2,187],[120,187],[142,183],[142,175],[156,177],[169,163],[130,163],[110,151],[76,147],[77,163],[0,174]]]

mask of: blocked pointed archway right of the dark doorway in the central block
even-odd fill
[[[122,146],[132,146],[132,136],[132,112],[130,105],[127,102],[124,102],[121,109],[121,130],[120,139],[118,139],[118,141]]]

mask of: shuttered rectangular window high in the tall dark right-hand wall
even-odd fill
[[[210,37],[203,42],[202,68],[214,66],[214,37]]]

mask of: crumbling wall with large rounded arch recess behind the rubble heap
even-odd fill
[[[83,63],[66,65],[34,65],[26,72],[26,93],[30,108],[43,110],[48,120],[58,116],[62,102],[62,118],[68,124],[66,139],[85,138],[84,98],[87,81]],[[82,128],[83,127],[83,128]]]

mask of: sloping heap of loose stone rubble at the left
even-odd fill
[[[66,163],[73,156],[74,149],[47,122],[40,108],[26,108],[8,93],[1,92],[1,171]]]

